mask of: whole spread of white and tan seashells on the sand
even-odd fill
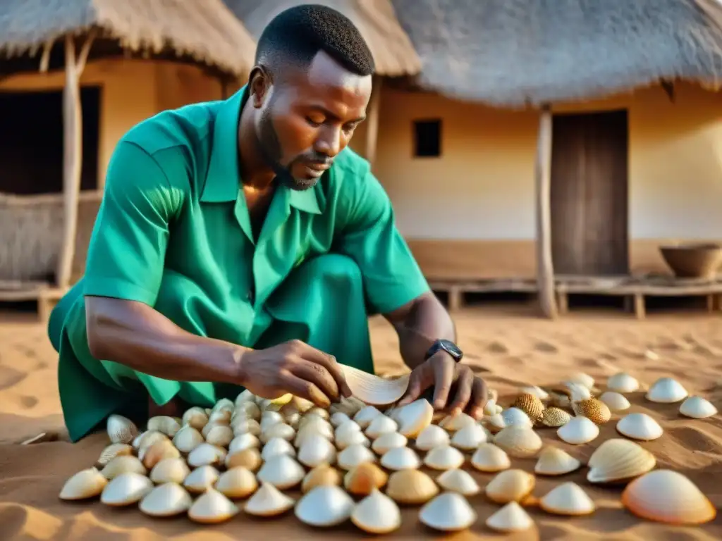
[[[625,393],[640,387],[628,374],[610,377],[604,392],[594,383],[578,374],[547,390],[525,387],[507,409],[494,396],[479,422],[464,413],[439,418],[427,400],[382,412],[351,398],[324,410],[291,395],[264,400],[248,391],[235,403],[222,399],[212,409],[190,408],[180,419],[151,418],[142,433],[111,415],[110,445],[95,466],[66,481],[60,497],[100,496],[108,506],[138,505],[149,516],[186,514],[206,524],[241,510],[277,516],[294,509],[311,526],[350,520],[365,532],[383,534],[401,526],[399,505],[419,506],[419,521],[428,527],[467,529],[477,521],[469,500],[483,494],[500,505],[487,527],[523,531],[534,525],[525,506],[567,516],[596,510],[572,482],[532,496],[535,475],[511,463],[536,457],[534,473],[545,476],[583,467],[558,447],[542,449],[535,428],[554,427],[568,444],[587,444],[599,435],[600,424],[630,408]],[[707,400],[688,397],[674,379],[659,379],[646,397],[684,400],[679,412],[693,418],[717,413]],[[661,437],[658,423],[645,413],[622,415],[616,428],[625,438],[596,448],[586,464],[588,482],[626,485],[622,503],[645,519],[712,520],[716,510],[696,485],[678,472],[653,470],[653,454],[632,441]],[[482,488],[468,466],[495,477]],[[297,488],[300,497],[288,493]]]

